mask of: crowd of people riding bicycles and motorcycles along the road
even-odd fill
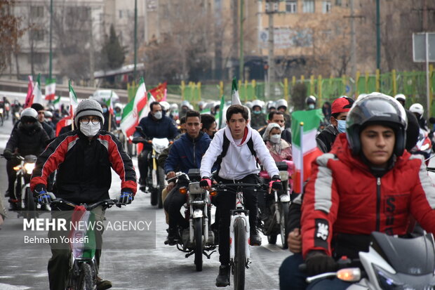
[[[316,110],[318,106],[312,95],[305,104],[305,110]],[[147,138],[173,140],[159,156],[166,178],[173,178],[178,171],[199,169],[201,187],[211,190],[217,182],[260,183],[262,169],[270,178],[269,190],[281,191],[275,162],[293,160],[286,100],[230,105],[225,107],[225,124],[218,124],[217,116],[224,110],[220,103],[197,105],[194,110],[183,101],[178,110],[177,104],[151,103],[149,114],[139,122],[142,130],[133,134],[133,139],[145,134]],[[335,270],[335,261],[342,256],[354,258],[359,251],[367,251],[370,232],[404,235],[413,219],[434,232],[431,218],[435,218],[435,187],[417,147],[420,131],[428,138],[432,134],[422,105],[413,104],[409,110],[405,105],[405,95],[393,98],[382,93],[360,95],[356,100],[341,96],[332,104],[323,104],[324,118],[316,143],[324,154],[314,162],[303,195],[295,195],[290,206],[288,248],[293,255],[283,261],[279,270],[281,289],[346,289],[349,283],[338,279],[321,279],[309,285],[304,279]],[[111,133],[119,128],[122,106],[115,105],[115,112],[109,114],[107,105],[95,100],[82,100],[74,112],[74,130],[67,128],[56,136],[57,122],[68,115],[65,108],[54,110],[52,106],[33,104],[22,110],[4,150],[8,159],[6,196],[11,210],[18,202],[13,190],[16,153],[38,156],[30,185],[34,197],[44,206],[52,199],[48,192],[78,203],[108,198],[111,168],[122,180],[119,202],[133,202],[138,187],[147,190],[151,145],[144,145],[138,154],[136,178],[131,152],[126,153],[126,143],[120,143]],[[188,226],[180,213],[185,196],[178,189],[183,185],[182,180],[171,182],[163,190],[166,242],[170,245],[180,241],[178,229]],[[246,190],[244,198],[249,210],[250,244],[257,246],[261,244],[257,195]],[[215,231],[220,255],[215,284],[227,286],[229,212],[234,209],[235,196],[218,192],[213,204],[217,206]],[[50,289],[64,289],[69,253],[52,252],[48,262]],[[100,252],[97,261],[99,256]],[[301,263],[307,265],[306,272],[300,271]],[[97,289],[111,286],[99,278]]]

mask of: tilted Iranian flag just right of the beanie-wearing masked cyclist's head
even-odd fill
[[[145,105],[147,105],[147,88],[142,77],[135,98],[123,108],[120,127],[126,137],[135,133],[135,126],[139,124],[139,115]]]

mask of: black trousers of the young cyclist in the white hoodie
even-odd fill
[[[234,183],[233,180],[216,178],[218,182]],[[241,180],[241,183],[258,183],[258,176],[250,174]],[[249,210],[249,226],[253,232],[257,226],[257,192],[254,190],[245,190],[243,192],[245,199],[245,209]],[[236,209],[236,194],[234,192],[217,192],[217,209],[219,209],[219,261],[221,265],[229,264],[229,223],[231,221],[231,210]]]

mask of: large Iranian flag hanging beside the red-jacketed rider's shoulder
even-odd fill
[[[321,109],[292,113],[292,150],[295,164],[293,182],[296,193],[302,193],[303,183],[311,175],[312,162],[323,154],[316,143],[317,128],[321,119]]]

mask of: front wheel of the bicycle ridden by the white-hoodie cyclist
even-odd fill
[[[245,289],[246,231],[241,218],[234,222],[234,289]]]

